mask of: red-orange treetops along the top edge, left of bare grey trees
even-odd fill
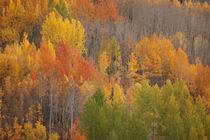
[[[119,19],[118,9],[113,0],[96,1],[74,0],[67,1],[70,5],[70,14],[82,17],[83,19],[96,20],[101,23],[114,22]]]

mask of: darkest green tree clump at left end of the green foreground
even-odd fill
[[[117,103],[106,104],[101,90],[97,90],[85,104],[81,126],[87,139],[128,139],[128,125],[126,108]]]

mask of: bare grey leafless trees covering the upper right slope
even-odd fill
[[[130,36],[138,42],[142,36],[163,35],[172,40],[176,49],[184,49],[190,63],[195,63],[199,57],[204,64],[209,64],[210,18],[206,4],[189,1],[181,5],[177,0],[127,0],[123,3],[119,0],[119,13],[126,20],[121,27],[116,27],[117,36],[122,42]]]

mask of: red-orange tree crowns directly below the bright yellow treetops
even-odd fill
[[[85,61],[80,52],[66,43],[60,43],[56,52],[58,72],[61,75],[72,76],[78,85],[86,80],[92,80],[93,62]]]

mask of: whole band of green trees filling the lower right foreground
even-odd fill
[[[209,115],[201,98],[195,104],[182,80],[161,89],[147,81],[136,84],[133,110],[115,102],[105,102],[97,90],[87,101],[82,114],[81,129],[87,139],[207,139]],[[97,125],[96,125],[97,124]]]

